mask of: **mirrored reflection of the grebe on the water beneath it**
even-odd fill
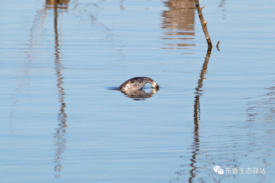
[[[146,100],[145,98],[152,97],[153,94],[158,92],[160,89],[152,88],[152,91],[150,93],[146,93],[143,90],[135,90],[135,91],[120,91],[124,95],[127,95],[129,98],[134,98],[133,100]]]

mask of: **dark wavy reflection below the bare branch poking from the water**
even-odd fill
[[[203,95],[204,93],[202,92],[203,90],[200,90],[200,88],[203,87],[203,80],[205,79],[204,75],[206,74],[206,70],[207,70],[207,64],[209,61],[209,57],[211,54],[211,50],[212,50],[212,46],[208,47],[207,50],[207,54],[204,60],[204,64],[202,66],[202,70],[200,71],[200,78],[198,81],[198,87],[196,88],[196,92],[195,92],[195,100],[194,100],[194,142],[192,144],[192,149],[193,149],[193,156],[191,159],[191,164],[190,166],[192,167],[192,170],[189,172],[191,177],[189,178],[189,183],[192,182],[192,178],[194,178],[196,176],[196,169],[197,167],[194,166],[194,164],[196,163],[196,155],[197,155],[197,151],[199,151],[200,149],[200,140],[199,140],[199,123],[200,123],[200,96]]]

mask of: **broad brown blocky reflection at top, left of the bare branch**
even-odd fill
[[[169,29],[169,32],[163,32],[165,40],[183,40],[190,41],[194,38],[178,38],[177,36],[194,36],[194,18],[196,9],[193,0],[170,0],[164,2],[169,8],[163,11],[162,26],[163,29]],[[196,46],[195,44],[167,44],[173,47],[178,46]],[[179,48],[161,48],[161,49],[179,49]]]

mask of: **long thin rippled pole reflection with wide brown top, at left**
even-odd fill
[[[65,92],[64,88],[62,88],[63,82],[63,77],[62,77],[62,68],[63,65],[60,60],[60,48],[59,48],[59,35],[58,35],[58,30],[57,30],[57,17],[58,17],[58,9],[65,9],[67,10],[68,8],[68,0],[46,0],[46,9],[54,9],[54,65],[55,65],[55,71],[56,71],[56,77],[57,77],[57,88],[58,88],[58,100],[60,103],[60,110],[59,113],[57,114],[57,120],[58,120],[58,128],[56,128],[56,133],[54,133],[54,138],[55,138],[55,155],[54,155],[54,162],[56,163],[56,166],[54,167],[54,171],[57,172],[57,175],[55,177],[57,180],[60,178],[59,172],[61,171],[62,165],[61,165],[61,153],[64,151],[66,148],[65,143],[66,143],[66,138],[65,138],[65,133],[66,130],[65,128],[67,127],[66,125],[66,118],[67,114],[65,113],[65,107],[66,103],[64,101],[65,99]],[[62,13],[62,11],[60,11]],[[60,20],[61,22],[61,20]]]

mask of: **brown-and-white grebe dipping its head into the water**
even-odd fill
[[[144,87],[146,83],[150,83],[152,88],[158,88],[158,84],[151,78],[147,77],[135,77],[131,78],[119,86],[119,91],[133,91],[133,90],[140,90]]]

